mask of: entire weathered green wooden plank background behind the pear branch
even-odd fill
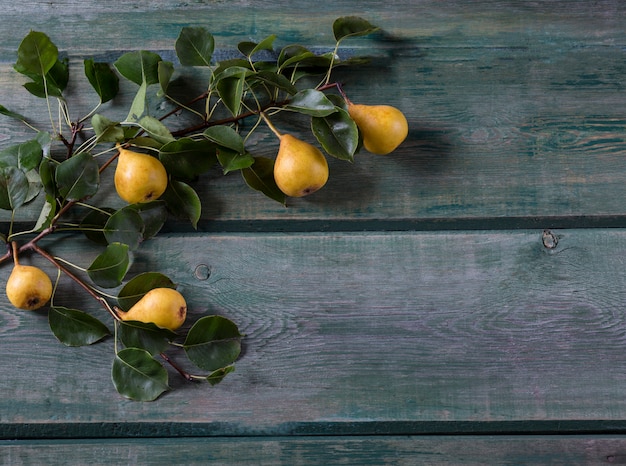
[[[87,57],[173,58],[184,26],[208,27],[229,56],[272,33],[323,50],[336,17],[359,15],[385,35],[346,42],[375,60],[339,77],[351,100],[395,105],[410,126],[393,155],[332,160],[326,187],[286,208],[216,170],[197,187],[199,230],[170,222],[142,245],[133,273],[162,270],[192,317],[247,334],[215,387],[172,374],[158,401],[126,401],[110,340],[65,348],[45,312],[2,295],[1,463],[626,462],[626,3],[0,0],[0,12],[0,104],[28,115],[43,104],[12,65],[31,29],[78,80]],[[95,101],[72,86],[85,113]],[[0,117],[0,149],[29,136]],[[262,132],[250,148],[277,147]],[[97,254],[73,237],[45,246],[86,265]],[[67,282],[58,300],[96,309]]]

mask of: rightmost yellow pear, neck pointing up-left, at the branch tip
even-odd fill
[[[409,134],[404,114],[390,105],[363,105],[347,102],[348,113],[363,135],[368,152],[386,155],[394,151]]]

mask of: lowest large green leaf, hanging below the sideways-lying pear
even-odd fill
[[[139,348],[125,348],[115,355],[111,378],[120,395],[135,401],[154,401],[170,389],[167,370]]]

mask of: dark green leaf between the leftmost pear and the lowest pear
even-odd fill
[[[54,336],[67,346],[92,345],[111,332],[105,324],[86,312],[53,306],[48,323]]]

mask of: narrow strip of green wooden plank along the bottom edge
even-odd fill
[[[626,461],[624,437],[185,438],[0,443],[11,465],[606,465]]]

